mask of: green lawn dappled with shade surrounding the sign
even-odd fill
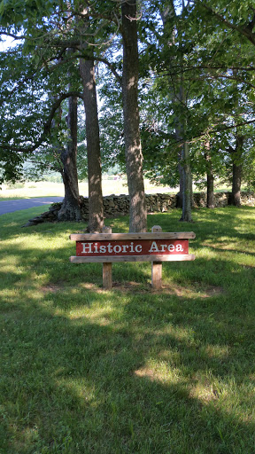
[[[68,261],[83,225],[20,229],[41,212],[0,216],[0,453],[254,454],[255,208],[150,215],[197,235],[159,292],[146,262],[104,291]]]

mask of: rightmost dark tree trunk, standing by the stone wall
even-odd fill
[[[232,192],[230,195],[230,205],[241,206],[241,183],[242,183],[242,162],[243,136],[236,137],[236,150],[232,154]]]

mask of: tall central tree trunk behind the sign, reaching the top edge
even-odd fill
[[[122,98],[128,192],[129,231],[147,231],[143,154],[139,129],[136,1],[121,4],[123,39]]]

